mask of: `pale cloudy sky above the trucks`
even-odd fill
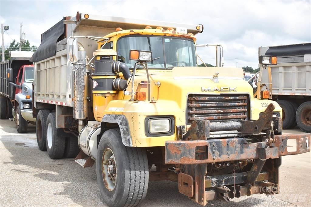
[[[0,0],[0,21],[10,30],[4,45],[19,42],[20,23],[30,45],[40,34],[77,11],[105,16],[204,25],[198,44],[221,44],[224,66],[258,67],[258,47],[311,42],[311,0]],[[174,25],[172,25],[174,27]],[[215,65],[215,48],[198,48],[204,62]],[[238,58],[238,60],[236,60]],[[198,60],[200,64],[201,61]]]

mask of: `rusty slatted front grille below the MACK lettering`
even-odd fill
[[[210,122],[236,122],[248,120],[249,98],[246,94],[189,94],[187,124],[195,119]]]

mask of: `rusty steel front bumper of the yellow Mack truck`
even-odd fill
[[[244,159],[276,159],[284,155],[310,151],[310,134],[275,135],[274,138],[276,141],[270,145],[266,142],[247,143],[245,138],[166,141],[165,163],[200,164]],[[287,140],[290,139],[296,140],[296,151],[288,152]]]

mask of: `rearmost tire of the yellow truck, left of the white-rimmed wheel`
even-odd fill
[[[38,147],[41,151],[46,151],[46,120],[48,119],[49,113],[49,110],[41,109],[37,115],[36,135]]]

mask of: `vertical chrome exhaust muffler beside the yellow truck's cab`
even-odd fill
[[[79,119],[79,131],[83,127],[83,120],[87,117],[87,73],[86,51],[78,51],[77,70],[73,73],[73,118]]]

